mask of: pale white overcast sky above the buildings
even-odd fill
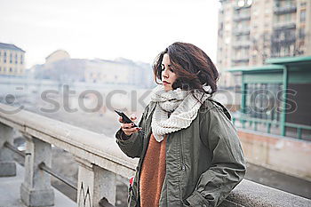
[[[0,0],[0,42],[26,51],[27,68],[58,49],[152,63],[175,41],[216,61],[218,9],[219,0]]]

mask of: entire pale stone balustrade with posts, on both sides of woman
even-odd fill
[[[12,131],[18,130],[27,139],[25,177],[20,187],[23,203],[53,205],[50,175],[38,166],[44,162],[51,167],[53,145],[75,155],[79,163],[76,201],[79,207],[98,207],[103,197],[116,204],[116,175],[132,177],[137,160],[124,155],[115,139],[26,110],[12,113],[14,110],[15,107],[0,104],[0,176],[16,173],[11,152],[4,143],[12,143]],[[311,201],[244,179],[220,206],[307,207]]]

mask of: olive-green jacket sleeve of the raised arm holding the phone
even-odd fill
[[[142,131],[146,131],[145,120],[147,114],[148,106],[145,108],[145,111],[141,115],[140,123],[138,124],[140,127],[142,127]],[[132,158],[140,157],[144,141],[144,132],[142,131],[132,133],[131,136],[127,136],[121,128],[116,131],[116,143],[125,155]]]

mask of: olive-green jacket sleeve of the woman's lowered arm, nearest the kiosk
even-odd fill
[[[201,129],[211,151],[211,167],[201,174],[186,200],[191,206],[218,206],[241,182],[246,166],[235,126],[222,109],[212,108],[204,118]]]

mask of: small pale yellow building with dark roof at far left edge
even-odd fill
[[[25,51],[14,44],[0,43],[0,76],[24,76]]]

